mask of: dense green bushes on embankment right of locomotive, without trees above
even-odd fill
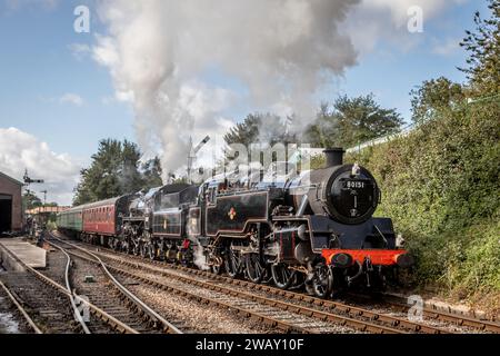
[[[382,189],[422,284],[500,291],[500,102],[443,109],[409,136],[349,155]]]

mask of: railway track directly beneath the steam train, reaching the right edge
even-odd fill
[[[82,244],[82,246],[89,248],[94,246],[90,246],[87,244]],[[371,325],[369,327],[359,325],[356,322],[347,322],[343,319],[336,319],[329,315],[324,315],[321,313],[337,314],[339,316],[361,319],[362,322],[369,322],[370,324],[376,324],[379,326],[388,326],[389,328],[404,330],[408,333],[423,333],[423,334],[447,334],[447,333],[492,333],[500,334],[500,324],[491,320],[479,319],[470,316],[464,316],[454,313],[447,313],[443,310],[437,310],[428,307],[423,307],[422,309],[422,320],[409,319],[408,310],[409,306],[401,298],[397,298],[392,295],[380,295],[379,300],[382,300],[384,304],[386,312],[379,312],[377,308],[370,307],[360,307],[359,304],[352,305],[352,303],[340,303],[337,300],[326,300],[317,297],[308,296],[303,293],[297,293],[291,290],[282,290],[274,288],[264,284],[254,284],[248,280],[242,279],[232,279],[226,276],[213,275],[210,271],[203,271],[194,268],[177,266],[172,264],[168,264],[164,261],[156,261],[143,259],[138,256],[130,256],[116,253],[112,249],[100,248],[100,251],[97,253],[102,258],[118,258],[121,265],[129,266],[130,268],[137,268],[138,266],[141,269],[150,268],[151,271],[156,274],[160,273],[164,277],[169,278],[188,278],[187,275],[196,276],[201,278],[202,280],[198,280],[198,285],[200,283],[207,284],[210,281],[213,286],[211,288],[216,289],[224,289],[224,286],[231,286],[232,293],[238,293],[238,290],[250,293],[251,295],[247,295],[247,298],[269,298],[268,304],[273,304],[276,299],[278,299],[278,305],[283,309],[293,309],[301,308],[298,310],[299,314],[302,315],[312,315],[317,318],[327,318],[339,323],[340,325],[350,325],[357,330],[361,332],[371,332],[371,333],[386,333],[388,330],[380,330],[377,328],[372,328]],[[126,256],[126,258],[123,257]],[[173,275],[172,275],[173,273]],[[179,275],[181,274],[181,275]],[[189,279],[189,278],[188,278]],[[186,279],[187,281],[187,279]],[[234,289],[238,288],[238,289]],[[228,290],[227,290],[228,291]],[[259,293],[258,296],[253,296],[256,293]],[[263,300],[263,299],[261,299]],[[290,301],[293,305],[290,305]],[[373,303],[373,299],[371,299]],[[389,313],[388,313],[389,309]],[[319,313],[318,313],[319,312]]]

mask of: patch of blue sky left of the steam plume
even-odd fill
[[[17,127],[57,152],[87,160],[100,138],[133,139],[133,112],[103,103],[113,96],[108,71],[71,52],[72,43],[93,40],[73,31],[74,7],[63,1],[56,9],[26,6],[0,14],[0,127]],[[60,102],[66,93],[77,93],[83,105]]]

